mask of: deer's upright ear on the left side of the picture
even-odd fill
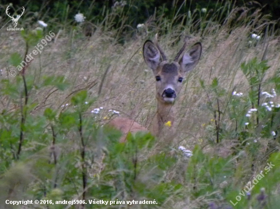
[[[158,67],[159,63],[161,62],[161,56],[158,48],[156,45],[147,40],[143,46],[143,55],[146,64],[153,70],[155,73],[156,68]]]

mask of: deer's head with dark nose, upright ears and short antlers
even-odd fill
[[[156,79],[156,99],[164,105],[171,105],[182,88],[182,81],[187,72],[197,65],[202,51],[201,43],[196,43],[186,51],[180,61],[178,58],[186,48],[186,42],[173,62],[169,62],[157,40],[147,40],[143,46],[144,60],[152,69]]]

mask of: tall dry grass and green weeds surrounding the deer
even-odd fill
[[[276,21],[222,2],[172,16],[161,7],[133,26],[133,2],[97,16],[92,3],[76,18],[56,4],[53,14],[25,9],[22,31],[2,16],[0,208],[278,208]],[[156,33],[168,57],[186,39],[202,43],[202,57],[176,101],[172,146],[142,132],[122,144],[111,118],[149,126],[154,116],[142,46]]]

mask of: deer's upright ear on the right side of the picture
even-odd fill
[[[189,51],[186,51],[180,60],[181,73],[186,73],[192,71],[192,69],[197,65],[201,56],[202,46],[198,42],[192,46]]]

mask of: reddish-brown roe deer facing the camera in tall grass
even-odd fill
[[[174,125],[174,101],[177,98],[181,88],[184,76],[192,71],[201,57],[202,45],[200,42],[195,43],[188,51],[185,51],[187,41],[177,53],[174,61],[169,62],[157,42],[147,40],[143,45],[143,56],[146,64],[152,69],[156,81],[156,100],[157,110],[151,124],[150,132],[159,137],[164,126]],[[183,53],[180,61],[180,55]],[[128,132],[146,131],[148,129],[132,119],[117,117],[108,123],[122,131],[123,136],[120,142],[126,142]],[[173,132],[168,130],[168,132]]]

